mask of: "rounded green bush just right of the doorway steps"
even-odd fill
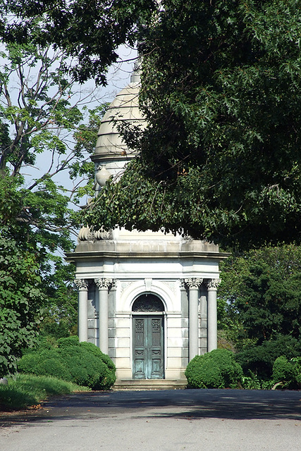
[[[242,368],[234,354],[225,349],[195,356],[185,371],[190,388],[238,388]]]

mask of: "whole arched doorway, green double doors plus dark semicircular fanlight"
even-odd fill
[[[133,303],[133,378],[164,378],[164,304],[156,295]]]

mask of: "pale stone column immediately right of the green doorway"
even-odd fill
[[[189,288],[189,360],[199,354],[199,285],[202,279],[185,280]]]

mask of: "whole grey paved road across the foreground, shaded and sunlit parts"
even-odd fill
[[[79,393],[0,416],[0,450],[299,451],[300,398],[266,390]]]

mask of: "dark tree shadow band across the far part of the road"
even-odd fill
[[[136,418],[301,419],[301,393],[271,390],[151,390],[75,393],[37,412],[1,414],[0,426],[62,419]]]

